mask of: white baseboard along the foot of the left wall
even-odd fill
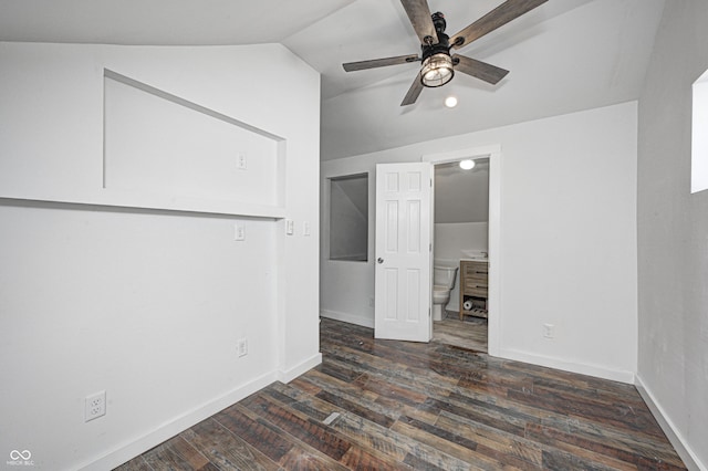
[[[210,402],[177,417],[170,422],[160,426],[158,429],[137,438],[129,443],[117,447],[114,451],[111,451],[95,461],[79,465],[77,469],[82,471],[103,471],[114,469],[134,457],[146,452],[150,448],[173,438],[184,430],[187,430],[189,427],[199,423],[204,419],[214,416],[218,411],[226,409],[232,404],[236,404],[251,394],[264,388],[275,381],[278,379],[277,376],[275,371],[262,375]]]

